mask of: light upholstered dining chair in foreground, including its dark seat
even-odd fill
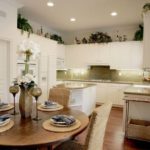
[[[105,129],[111,108],[112,103],[109,102],[94,110],[84,144],[73,139],[61,143],[54,150],[102,150]]]

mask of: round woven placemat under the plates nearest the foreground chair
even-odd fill
[[[57,126],[51,125],[50,119],[49,119],[49,120],[44,121],[42,126],[43,126],[43,128],[45,130],[48,130],[48,131],[69,132],[69,131],[73,131],[75,129],[78,129],[81,126],[81,122],[76,119],[76,123],[74,125],[72,125],[72,126],[69,126],[69,127],[57,127]]]

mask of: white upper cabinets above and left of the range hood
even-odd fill
[[[68,68],[85,68],[89,65],[108,65],[108,44],[81,44],[66,46]]]

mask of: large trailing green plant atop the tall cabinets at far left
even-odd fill
[[[30,36],[30,33],[33,33],[32,26],[28,23],[27,19],[25,19],[21,16],[21,14],[18,14],[17,28],[21,29],[22,34],[24,33],[24,31],[27,31],[28,37]]]

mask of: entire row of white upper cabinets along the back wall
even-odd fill
[[[143,43],[138,41],[66,46],[66,67],[110,65],[111,69],[141,69]]]

